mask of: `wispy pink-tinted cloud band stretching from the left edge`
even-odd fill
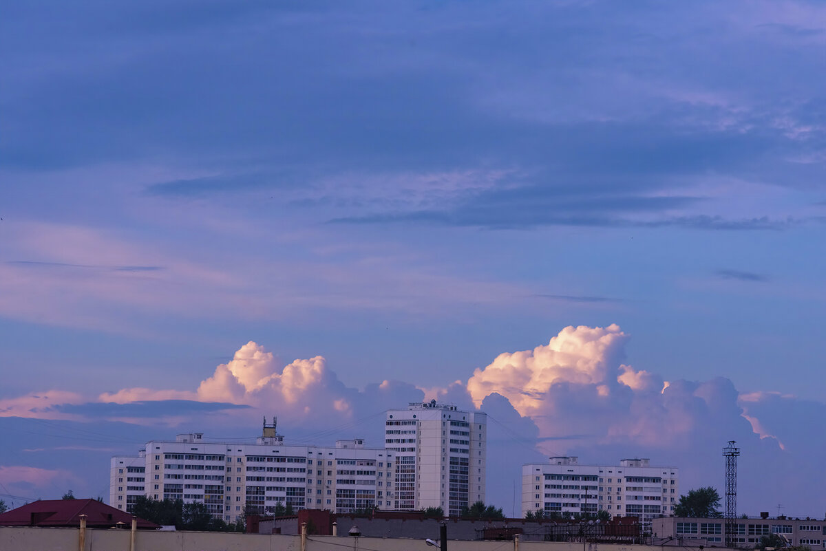
[[[335,239],[303,237],[301,246],[284,244],[295,257],[218,263],[173,244],[148,247],[107,228],[17,221],[0,252],[0,315],[146,336],[156,329],[145,320],[158,315],[258,320],[278,312],[301,319],[309,311],[355,309],[430,317],[459,315],[450,304],[497,308],[527,302],[532,293],[468,280],[380,246],[355,252],[342,266],[329,251]],[[261,294],[262,288],[269,291]]]

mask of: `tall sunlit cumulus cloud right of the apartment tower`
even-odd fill
[[[585,438],[608,445],[664,447],[709,426],[747,426],[728,379],[670,381],[622,362],[626,335],[617,325],[565,327],[547,345],[497,356],[468,379],[474,401],[491,393],[530,417],[539,438],[564,453]],[[691,438],[689,438],[691,437]]]

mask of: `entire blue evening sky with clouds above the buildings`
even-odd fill
[[[2,3],[0,499],[436,398],[826,511],[823,2]]]

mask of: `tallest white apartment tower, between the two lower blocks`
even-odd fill
[[[486,414],[435,400],[388,410],[384,446],[395,456],[396,510],[442,507],[454,516],[485,501]]]

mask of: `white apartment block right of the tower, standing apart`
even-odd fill
[[[673,515],[679,498],[679,469],[651,466],[648,459],[586,465],[577,457],[552,457],[548,464],[522,466],[523,515],[608,511],[611,516],[638,516],[650,525],[659,515]]]

